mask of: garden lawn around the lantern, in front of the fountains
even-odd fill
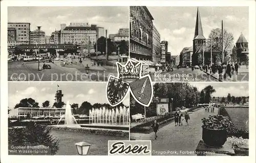
[[[129,138],[103,136],[80,132],[52,130],[53,136],[59,138],[59,150],[56,155],[78,155],[75,143],[91,144],[88,155],[108,155],[108,141],[128,140]]]

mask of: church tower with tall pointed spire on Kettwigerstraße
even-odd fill
[[[203,48],[205,49],[205,37],[201,23],[200,12],[197,8],[197,20],[195,28],[195,36],[193,39],[193,57],[192,65],[199,65],[203,63]]]

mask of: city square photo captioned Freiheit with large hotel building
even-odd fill
[[[8,81],[108,81],[129,57],[129,7],[8,7]]]

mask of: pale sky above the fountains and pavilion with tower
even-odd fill
[[[62,90],[62,101],[70,104],[88,101],[95,103],[108,103],[106,99],[106,82],[9,82],[9,108],[13,108],[20,100],[32,98],[39,103],[39,106],[46,100],[50,105],[54,104],[55,94],[58,89]],[[123,104],[130,105],[129,95],[126,96]]]

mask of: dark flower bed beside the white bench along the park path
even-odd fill
[[[162,128],[163,126],[172,122],[172,120],[174,120],[174,117],[172,117],[172,115],[152,117],[148,120],[145,120],[145,122],[142,122],[142,124],[139,124],[133,128],[130,128],[130,132],[151,133],[153,132],[153,129],[151,126],[155,120],[157,120],[157,123],[159,124],[159,128]]]

